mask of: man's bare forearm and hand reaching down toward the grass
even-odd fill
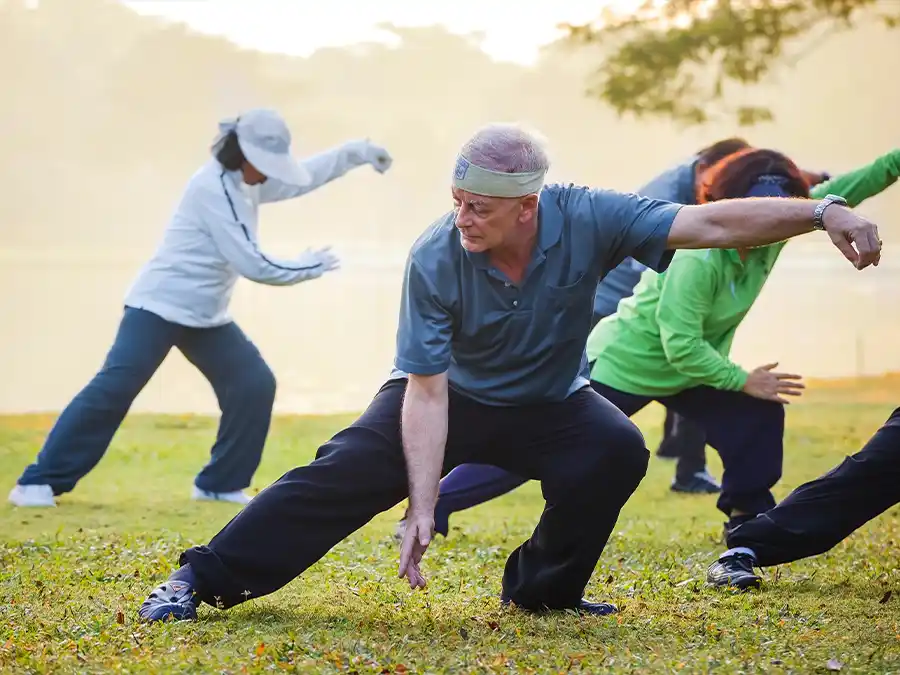
[[[409,480],[407,536],[400,552],[400,576],[407,577],[412,588],[425,587],[419,562],[434,532],[434,507],[447,444],[448,411],[446,371],[438,375],[409,375],[400,416]]]

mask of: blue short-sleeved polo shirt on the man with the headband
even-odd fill
[[[520,284],[487,253],[460,244],[455,212],[407,258],[392,377],[449,371],[450,386],[487,405],[564,400],[588,384],[585,343],[597,280],[626,257],[659,272],[681,204],[612,190],[548,185]]]

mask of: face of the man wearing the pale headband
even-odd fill
[[[520,224],[537,211],[537,195],[511,199],[484,197],[452,188],[460,242],[471,253],[482,253],[509,242]]]

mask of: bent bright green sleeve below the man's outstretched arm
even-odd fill
[[[656,322],[669,363],[698,385],[743,389],[747,372],[703,338],[704,319],[718,291],[715,268],[695,256],[676,254],[664,277]]]

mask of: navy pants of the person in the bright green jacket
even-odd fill
[[[654,400],[599,382],[591,382],[591,386],[629,417]],[[722,457],[725,472],[719,510],[729,516],[733,510],[757,514],[775,505],[770,489],[781,478],[783,406],[711,387],[695,387],[656,400],[693,422]],[[441,481],[435,529],[446,535],[451,514],[511,492],[527,480],[521,474],[494,467],[460,466]],[[607,483],[604,481],[597,489],[606,489]]]

